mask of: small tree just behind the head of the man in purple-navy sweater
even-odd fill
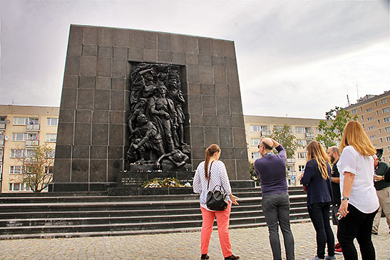
[[[297,137],[294,136],[289,125],[274,126],[272,129],[272,139],[279,142],[284,150],[286,150],[287,158],[292,158],[295,155],[298,147]]]

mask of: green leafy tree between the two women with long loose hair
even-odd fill
[[[349,111],[335,107],[325,113],[325,119],[319,120],[318,130],[322,133],[317,135],[316,140],[321,142],[325,147],[331,147],[339,145],[342,141],[345,125],[351,119],[357,120],[357,115],[352,118],[349,115]]]

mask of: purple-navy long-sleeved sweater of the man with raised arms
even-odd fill
[[[255,161],[255,172],[260,177],[262,195],[287,193],[286,150],[279,145],[277,154],[268,154]]]

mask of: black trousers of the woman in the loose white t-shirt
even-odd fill
[[[371,229],[378,209],[375,212],[365,214],[349,204],[348,211],[347,216],[340,219],[337,229],[337,239],[339,239],[340,246],[342,246],[344,259],[357,259],[357,252],[354,246],[355,238],[360,246],[361,259],[375,259],[375,249],[371,241]]]

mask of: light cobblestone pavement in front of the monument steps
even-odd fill
[[[373,236],[376,259],[379,260],[390,259],[390,234],[386,226],[382,218],[379,235]],[[314,257],[316,239],[312,223],[292,224],[292,232],[296,259]],[[267,227],[232,229],[230,239],[233,254],[241,259],[272,259]],[[358,246],[356,249],[359,251]],[[216,230],[212,232],[209,254],[210,260],[223,259]],[[2,240],[0,259],[200,259],[200,232]],[[337,255],[337,259],[344,258]]]

